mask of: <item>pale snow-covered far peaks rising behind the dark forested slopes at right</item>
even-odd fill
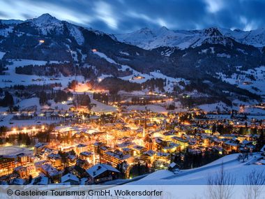
[[[146,50],[156,47],[168,46],[179,47],[183,50],[188,47],[197,47],[202,43],[222,43],[229,44],[229,40],[234,39],[239,43],[253,45],[255,47],[265,46],[265,29],[253,31],[241,31],[235,29],[222,29],[211,27],[202,30],[169,30],[166,27],[160,29],[139,29],[128,34],[116,34],[121,42],[137,45]]]

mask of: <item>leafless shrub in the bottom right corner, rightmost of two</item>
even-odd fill
[[[243,179],[244,181],[244,194],[246,199],[257,199],[262,193],[265,184],[264,171],[252,170]]]

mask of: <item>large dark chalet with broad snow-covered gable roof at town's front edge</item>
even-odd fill
[[[96,164],[93,167],[86,170],[89,174],[89,178],[93,183],[105,182],[108,180],[116,179],[119,175],[119,170],[113,168],[111,165],[107,164]]]

